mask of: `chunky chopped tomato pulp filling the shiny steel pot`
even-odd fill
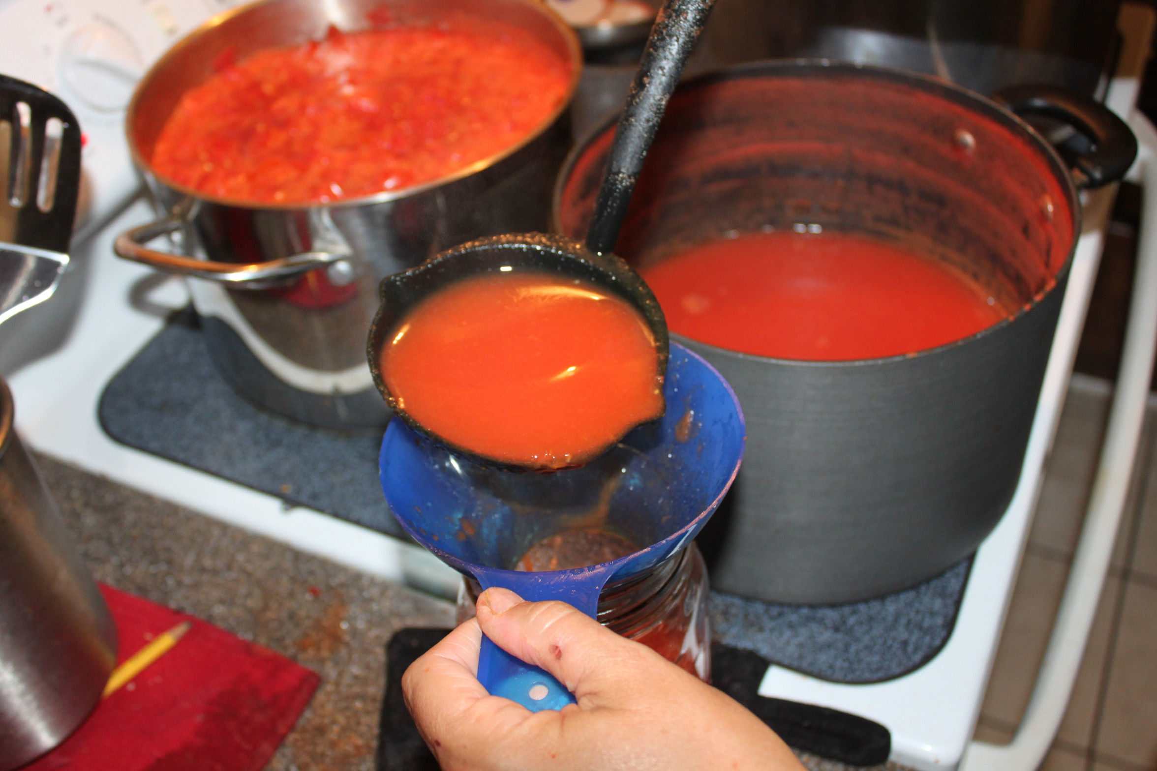
[[[569,81],[570,64],[516,28],[331,30],[227,64],[186,92],[153,169],[255,203],[401,190],[517,144]]]

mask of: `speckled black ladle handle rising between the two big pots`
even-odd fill
[[[714,5],[715,0],[666,0],[655,18],[614,131],[595,216],[587,231],[587,247],[592,252],[603,254],[614,250],[631,193],[666,111],[666,102]]]

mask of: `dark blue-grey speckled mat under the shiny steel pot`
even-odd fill
[[[221,378],[191,312],[112,378],[98,414],[131,447],[405,538],[377,481],[382,431],[326,431],[255,407]]]

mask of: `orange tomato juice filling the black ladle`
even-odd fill
[[[646,320],[566,276],[494,273],[450,284],[401,319],[381,363],[415,421],[519,466],[582,465],[663,414]]]

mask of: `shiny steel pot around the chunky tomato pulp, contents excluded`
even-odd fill
[[[318,206],[253,206],[216,199],[155,173],[153,144],[189,89],[226,52],[237,58],[352,31],[385,9],[395,22],[448,15],[531,31],[572,62],[574,31],[535,0],[264,0],[209,20],[143,77],[127,113],[128,143],[165,217],[117,239],[123,258],[189,276],[211,353],[226,379],[257,405],[334,429],[389,420],[366,363],[366,335],[382,277],[481,236],[545,230],[550,190],[569,146],[567,104],[521,144],[436,181]],[[183,255],[146,244],[179,235]]]

